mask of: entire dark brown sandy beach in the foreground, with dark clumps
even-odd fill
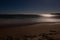
[[[0,28],[0,39],[6,40],[8,36],[11,36],[11,40],[15,40],[15,38],[17,38],[16,40],[45,40],[42,34],[46,34],[48,36],[47,38],[45,36],[45,39],[47,40],[60,40],[60,24],[34,24]]]

